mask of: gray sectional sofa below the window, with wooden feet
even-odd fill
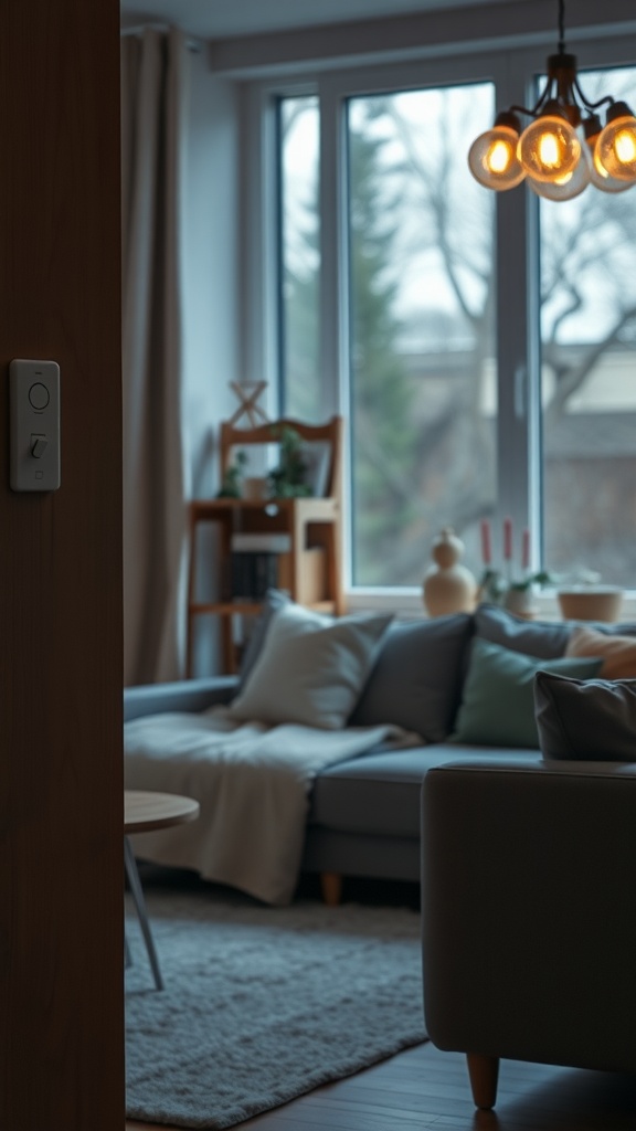
[[[390,625],[349,725],[394,723],[419,734],[422,744],[376,749],[316,777],[302,870],[320,873],[329,901],[340,898],[342,877],[420,879],[420,794],[429,769],[493,758],[541,762],[534,671],[590,679],[602,670],[601,659],[565,656],[575,627],[523,621],[496,605]],[[636,636],[634,624],[596,628],[608,636]],[[266,619],[260,629],[267,631]],[[260,645],[256,632],[253,648]],[[229,702],[252,664],[248,651],[237,677],[128,688],[124,718]]]

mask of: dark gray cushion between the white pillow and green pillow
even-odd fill
[[[395,723],[427,742],[441,742],[459,702],[471,632],[467,613],[392,624],[350,725]]]

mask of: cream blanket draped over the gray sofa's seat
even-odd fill
[[[316,774],[386,741],[421,744],[395,726],[323,731],[239,724],[224,707],[134,719],[124,726],[126,788],[184,794],[200,804],[190,824],[135,836],[135,852],[264,903],[287,904],[300,873]]]

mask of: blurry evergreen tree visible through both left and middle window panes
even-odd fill
[[[369,105],[369,120],[375,115]],[[354,577],[359,585],[409,584],[387,577],[396,543],[414,517],[412,386],[396,353],[397,280],[392,268],[397,201],[387,190],[385,141],[350,130],[351,429]],[[284,262],[285,413],[319,417],[318,202],[295,218]]]

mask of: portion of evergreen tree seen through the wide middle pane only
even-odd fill
[[[396,234],[385,143],[367,129],[350,131],[351,411],[354,578],[359,585],[399,585],[386,576],[395,543],[414,517],[413,390],[396,352]]]

